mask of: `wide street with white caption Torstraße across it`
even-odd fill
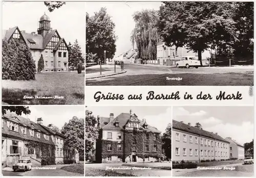
[[[91,79],[86,85],[102,86],[249,86],[253,69],[244,68],[171,68],[139,64],[124,64],[126,73]]]

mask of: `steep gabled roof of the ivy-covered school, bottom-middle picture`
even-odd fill
[[[136,114],[133,114],[136,116]],[[119,126],[115,126],[114,123],[116,122],[116,120],[118,119],[119,121]],[[129,121],[130,119],[130,114],[129,113],[121,113],[119,114],[115,119],[113,119],[111,122],[109,122],[108,124],[106,124],[105,126],[102,127],[103,130],[121,130],[123,129],[123,126],[126,125],[126,123]],[[143,125],[144,122],[140,119],[138,119],[140,122],[140,125]],[[141,128],[143,129],[143,128]],[[161,133],[161,131],[159,131],[157,128],[148,125],[147,129],[144,129],[148,132],[155,132],[155,133]]]

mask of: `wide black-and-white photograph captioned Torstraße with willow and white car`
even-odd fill
[[[253,2],[86,2],[86,85],[253,85]]]

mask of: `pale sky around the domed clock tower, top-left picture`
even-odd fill
[[[26,33],[37,32],[39,18],[46,13],[51,28],[57,29],[67,43],[78,40],[82,53],[85,52],[85,4],[67,2],[66,5],[49,12],[44,2],[2,2],[2,30],[18,26]]]

